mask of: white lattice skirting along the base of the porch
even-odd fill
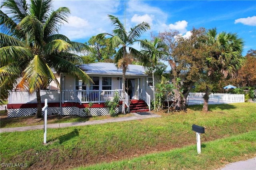
[[[90,116],[109,115],[107,107],[94,107],[90,109]],[[8,109],[8,117],[24,117],[36,114],[37,108]],[[116,108],[116,113],[122,111],[122,105]],[[42,112],[44,114],[44,111]],[[47,115],[60,114],[60,107],[48,107]],[[62,115],[78,115],[80,117],[88,116],[84,108],[62,107]]]

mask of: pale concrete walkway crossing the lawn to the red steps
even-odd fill
[[[141,113],[131,113],[131,114],[133,116],[117,117],[117,118],[110,118],[110,119],[103,119],[103,120],[73,122],[73,123],[47,124],[47,128],[62,128],[62,127],[72,127],[72,126],[95,125],[95,124],[111,123],[111,122],[118,122],[118,121],[130,121],[130,120],[138,120],[138,119],[148,119],[148,118],[153,118],[153,117],[161,117],[160,115],[156,115],[151,112],[141,112]],[[44,125],[1,128],[0,133],[14,132],[14,131],[30,131],[30,130],[37,130],[37,129],[44,129]]]

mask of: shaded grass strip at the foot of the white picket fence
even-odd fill
[[[194,110],[194,111],[202,111],[203,105],[192,105],[187,106],[188,109]],[[230,105],[230,104],[210,104],[208,105],[208,111],[213,111],[215,109],[221,109],[221,110],[227,110],[227,109],[236,109],[236,106]]]

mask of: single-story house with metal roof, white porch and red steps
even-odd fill
[[[41,90],[42,107],[48,99],[48,114],[87,116],[85,108],[90,108],[90,115],[108,115],[104,103],[111,100],[115,92],[122,95],[122,69],[114,63],[82,64],[80,68],[88,74],[94,83],[86,84],[67,73],[56,74],[61,88],[52,81],[48,89]],[[127,111],[148,111],[153,98],[152,76],[146,74],[143,66],[130,64],[126,71],[126,108]],[[89,106],[92,104],[92,106]],[[28,116],[36,113],[36,94],[29,92],[10,92],[8,99],[8,117]],[[116,110],[120,112],[122,106]]]

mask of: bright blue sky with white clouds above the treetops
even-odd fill
[[[56,0],[54,8],[68,7],[69,22],[60,33],[72,41],[87,42],[98,33],[111,33],[114,27],[108,20],[111,14],[126,23],[126,29],[146,21],[151,29],[142,38],[176,29],[189,35],[193,28],[217,28],[218,32],[236,32],[244,40],[243,55],[256,49],[256,1],[174,1],[174,0]],[[125,8],[126,7],[126,8]],[[125,10],[126,9],[126,10]],[[126,12],[125,12],[126,11]],[[124,17],[126,14],[126,17]],[[126,18],[126,20],[124,20]]]

